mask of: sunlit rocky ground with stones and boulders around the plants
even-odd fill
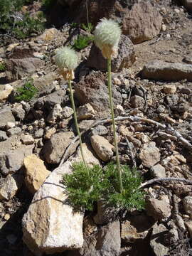
[[[75,22],[85,1],[58,1]],[[139,4],[137,4],[139,2]],[[192,239],[192,19],[191,1],[92,1],[90,21],[103,15],[122,23],[112,82],[120,161],[137,166],[146,208],[114,214],[73,213],[60,184],[80,159],[68,85],[54,50],[73,42],[79,28],[65,21],[26,41],[0,48],[0,255],[191,255]],[[60,5],[62,4],[62,6]],[[112,4],[109,8],[109,4]],[[36,2],[31,12],[38,11]],[[76,9],[74,9],[76,6]],[[106,8],[107,6],[107,8]],[[56,14],[50,14],[58,21]],[[110,11],[108,11],[110,10]],[[62,18],[60,18],[62,20]],[[11,39],[10,39],[11,40]],[[114,159],[106,60],[94,45],[78,52],[73,87],[86,162]],[[38,95],[16,102],[33,79]],[[48,178],[47,178],[48,177]],[[183,178],[163,181],[164,178]],[[42,185],[43,184],[43,185]],[[41,186],[42,185],[42,186]],[[113,216],[116,218],[113,218]]]

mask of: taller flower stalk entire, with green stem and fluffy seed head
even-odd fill
[[[95,44],[102,51],[102,55],[107,58],[107,72],[108,72],[108,90],[110,97],[110,109],[112,115],[112,126],[114,134],[114,146],[116,150],[116,159],[117,159],[117,170],[119,173],[119,191],[123,193],[123,184],[122,184],[122,170],[119,161],[119,151],[117,145],[117,135],[114,122],[114,109],[112,101],[112,73],[111,73],[111,60],[117,56],[118,43],[121,37],[121,29],[117,22],[107,18],[102,18],[100,23],[97,24],[94,35],[95,35]]]

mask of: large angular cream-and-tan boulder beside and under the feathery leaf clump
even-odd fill
[[[71,163],[66,161],[48,176],[23,216],[23,242],[36,256],[82,247],[83,214],[73,211],[60,183]]]

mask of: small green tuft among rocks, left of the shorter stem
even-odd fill
[[[24,100],[28,102],[35,97],[38,89],[33,85],[33,80],[28,80],[22,87],[18,87],[16,90],[16,101],[20,102]]]

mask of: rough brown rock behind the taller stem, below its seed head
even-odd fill
[[[112,87],[112,96],[114,105],[122,104],[122,96],[115,86]],[[109,111],[108,89],[105,85],[105,76],[100,72],[83,77],[75,85],[75,97],[82,105],[90,103],[94,110],[100,112],[101,115],[107,114],[107,110]]]

